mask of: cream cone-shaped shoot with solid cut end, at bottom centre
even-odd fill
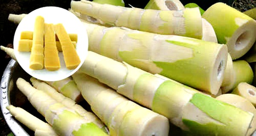
[[[111,136],[168,136],[166,117],[125,99],[93,77],[83,73],[72,76],[93,112],[108,125]]]

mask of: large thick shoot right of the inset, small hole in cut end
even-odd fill
[[[189,37],[107,28],[84,23],[89,51],[217,94],[227,62],[227,46]]]

